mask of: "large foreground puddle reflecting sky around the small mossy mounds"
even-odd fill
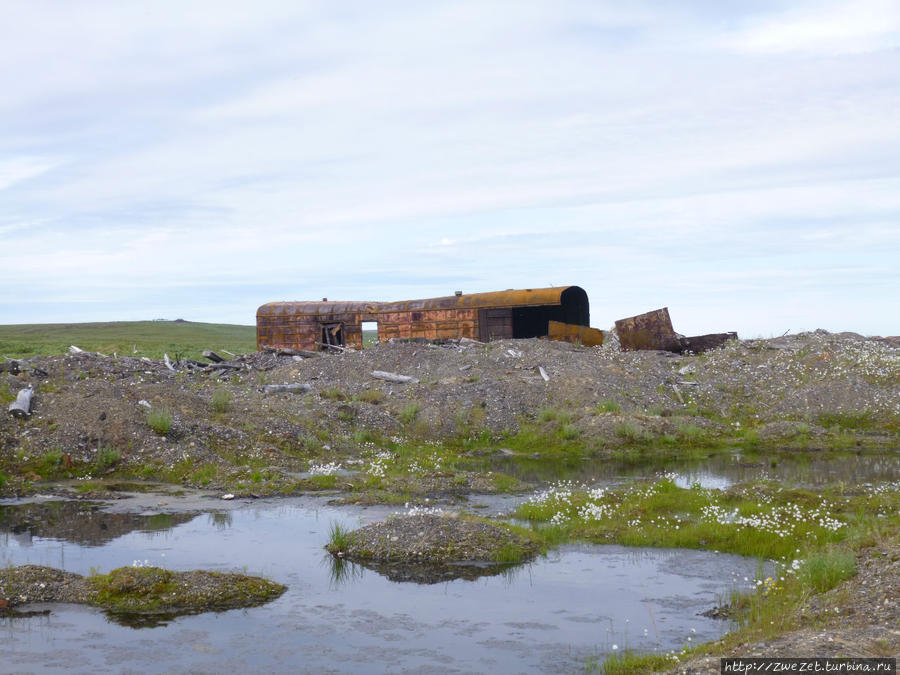
[[[66,673],[572,672],[614,645],[667,651],[720,636],[728,624],[700,612],[757,574],[756,561],[732,555],[570,546],[472,580],[396,582],[352,563],[336,569],[322,550],[333,522],[355,528],[385,517],[384,508],[292,498],[137,515],[119,512],[123,501],[112,513],[73,502],[0,508],[0,565],[33,563],[80,574],[135,561],[177,570],[239,570],[287,584],[287,593],[262,607],[182,616],[141,629],[80,606],[28,607],[39,613],[0,619],[5,667]],[[45,522],[47,513],[53,519]]]

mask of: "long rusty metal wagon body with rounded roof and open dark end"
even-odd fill
[[[457,293],[400,302],[270,302],[256,312],[257,348],[363,346],[363,323],[375,322],[378,340],[391,338],[501,338],[549,336],[599,344],[589,328],[587,293],[578,286],[493,293]]]

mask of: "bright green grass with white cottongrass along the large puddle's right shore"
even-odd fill
[[[682,488],[669,477],[609,490],[561,483],[534,495],[514,517],[532,524],[544,548],[579,540],[705,548],[774,563],[773,574],[760,574],[729,598],[741,628],[717,643],[721,650],[798,627],[795,610],[805,598],[855,575],[860,548],[896,537],[900,482],[853,495],[840,488],[816,494],[762,482],[728,491]],[[658,658],[620,653],[596,665],[602,672],[649,672],[665,665]]]

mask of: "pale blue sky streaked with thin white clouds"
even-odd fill
[[[0,324],[579,285],[900,334],[900,2],[0,0]]]

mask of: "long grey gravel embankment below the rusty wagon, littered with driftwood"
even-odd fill
[[[900,348],[848,333],[735,341],[700,356],[530,339],[382,344],[308,359],[259,353],[228,365],[171,370],[75,354],[4,368],[4,400],[35,390],[31,417],[0,416],[7,491],[21,490],[19,474],[41,477],[40,458],[95,474],[143,467],[163,476],[179,463],[209,463],[284,477],[311,460],[359,456],[374,436],[490,445],[532,425],[601,453],[688,432],[802,437],[807,446],[851,433],[853,442],[893,444],[900,428]],[[379,380],[376,370],[418,382]],[[298,383],[309,390],[262,391]]]

